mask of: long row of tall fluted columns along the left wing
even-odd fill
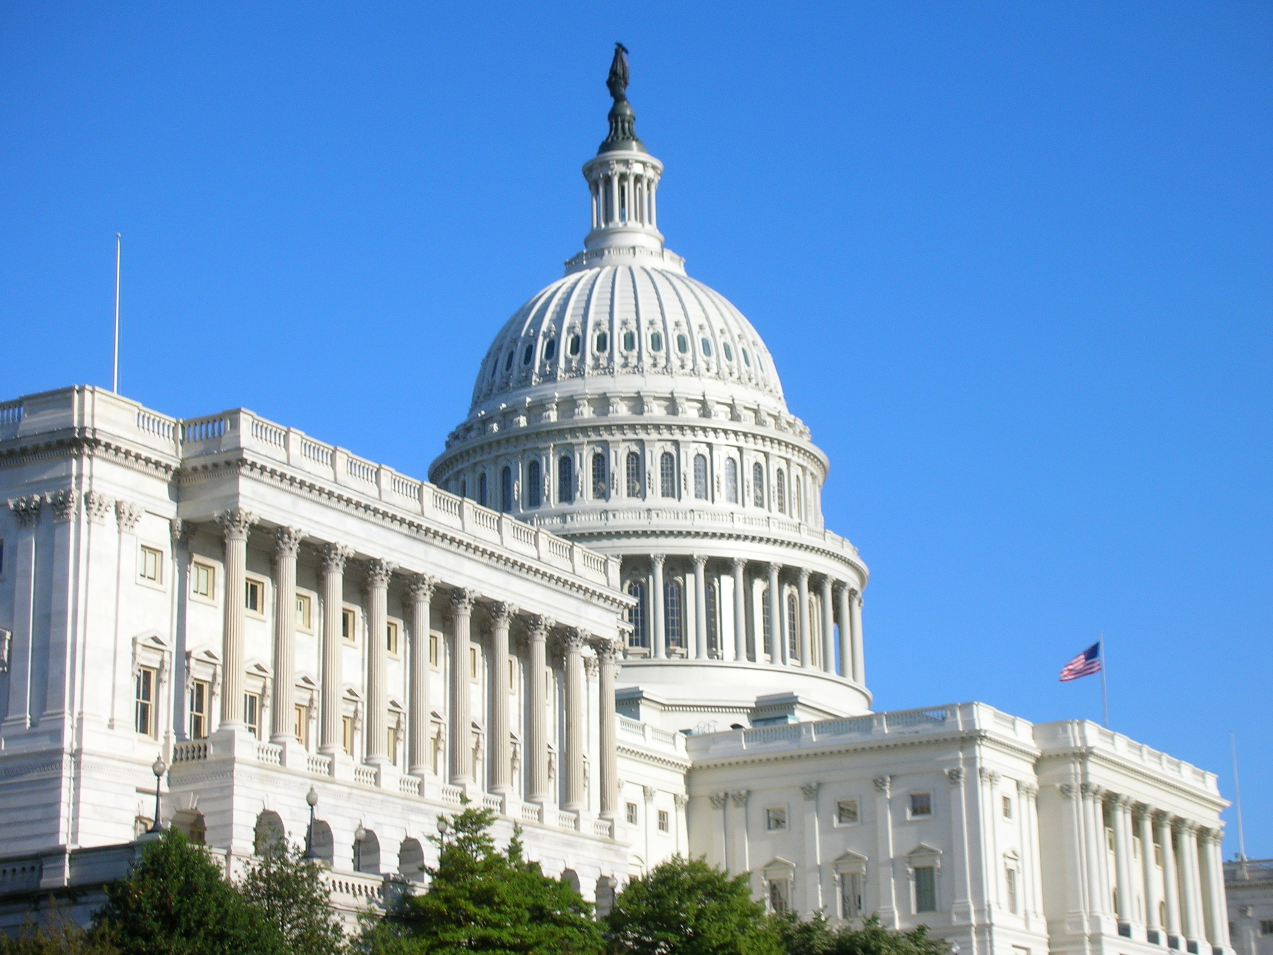
[[[222,694],[220,728],[242,730],[244,694],[244,626],[246,606],[242,595],[247,576],[247,540],[256,517],[242,509],[218,516],[225,540],[225,595],[222,640],[224,691]],[[270,741],[297,745],[292,714],[295,707],[295,587],[297,556],[304,535],[294,527],[274,532],[274,693]],[[342,607],[345,574],[354,551],[339,542],[320,542],[322,628],[320,638],[320,754],[335,764],[345,756],[342,739],[344,688],[342,674]],[[395,564],[370,558],[360,562],[363,569],[364,609],[368,619],[365,639],[365,728],[364,759],[383,770],[396,761],[388,751],[388,591],[395,581],[404,583],[404,616],[406,626],[406,772],[421,779],[433,777],[430,758],[430,722],[435,707],[448,708],[444,739],[447,745],[446,777],[442,782],[472,796],[489,791],[509,797],[516,792],[514,772],[519,761],[513,753],[510,714],[510,661],[514,621],[519,624],[526,647],[522,667],[526,700],[526,801],[546,805],[560,802],[572,812],[587,810],[584,791],[584,749],[587,741],[587,668],[586,657],[594,657],[598,675],[598,737],[600,810],[603,819],[614,817],[619,802],[615,746],[615,677],[621,652],[615,638],[598,637],[578,628],[559,628],[541,615],[519,614],[509,602],[482,598],[466,587],[446,587],[428,573],[410,572]],[[405,579],[404,579],[405,578]],[[449,660],[439,647],[437,665],[447,671],[449,691],[444,702],[430,700],[430,632],[434,629],[434,597],[447,591],[446,629],[451,638]],[[474,610],[481,606],[490,621],[490,679],[484,693],[489,694],[485,737],[489,772],[485,779],[475,774],[472,691],[472,647],[480,642],[475,633]],[[616,626],[617,626],[616,621]],[[564,725],[561,746],[561,798],[552,791],[550,772],[550,694],[549,651],[559,654],[564,684]]]

